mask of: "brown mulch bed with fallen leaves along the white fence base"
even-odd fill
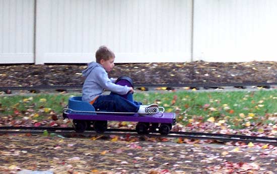
[[[82,85],[84,64],[2,65],[0,86]],[[110,77],[129,76],[134,84],[277,82],[277,61],[241,63],[116,64]]]

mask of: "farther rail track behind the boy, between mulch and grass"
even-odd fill
[[[272,86],[277,82],[242,82],[242,83],[181,83],[181,84],[134,84],[136,88],[213,88],[221,86]],[[6,90],[62,90],[62,89],[82,89],[82,85],[51,85],[51,86],[0,86],[0,91]]]

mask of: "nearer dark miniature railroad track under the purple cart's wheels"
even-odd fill
[[[277,146],[277,138],[273,137],[257,137],[247,135],[230,135],[230,134],[218,134],[218,133],[200,133],[200,132],[169,132],[168,135],[160,135],[157,132],[153,132],[147,135],[139,135],[135,130],[129,129],[107,129],[104,133],[96,133],[95,131],[86,131],[83,133],[77,133],[74,128],[63,128],[63,127],[0,127],[0,134],[42,134],[45,130],[48,133],[55,133],[58,135],[65,136],[76,136],[76,135],[132,135],[132,136],[150,136],[150,137],[168,137],[168,138],[189,138],[189,139],[206,139],[206,140],[217,140],[217,141],[242,141],[242,142],[253,142],[253,143],[265,143]]]

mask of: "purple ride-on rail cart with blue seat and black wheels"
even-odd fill
[[[119,77],[116,84],[133,87],[131,78]],[[132,101],[132,95],[123,95],[127,100]],[[63,118],[70,119],[76,132],[94,129],[103,133],[107,129],[107,121],[137,122],[135,130],[138,134],[157,132],[166,135],[176,123],[175,113],[165,113],[164,108],[159,107],[157,113],[140,115],[138,113],[123,112],[96,112],[95,108],[88,102],[83,102],[82,97],[71,97],[68,99],[68,106],[63,109]]]

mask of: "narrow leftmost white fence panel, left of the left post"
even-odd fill
[[[34,0],[0,0],[0,63],[34,63]]]

